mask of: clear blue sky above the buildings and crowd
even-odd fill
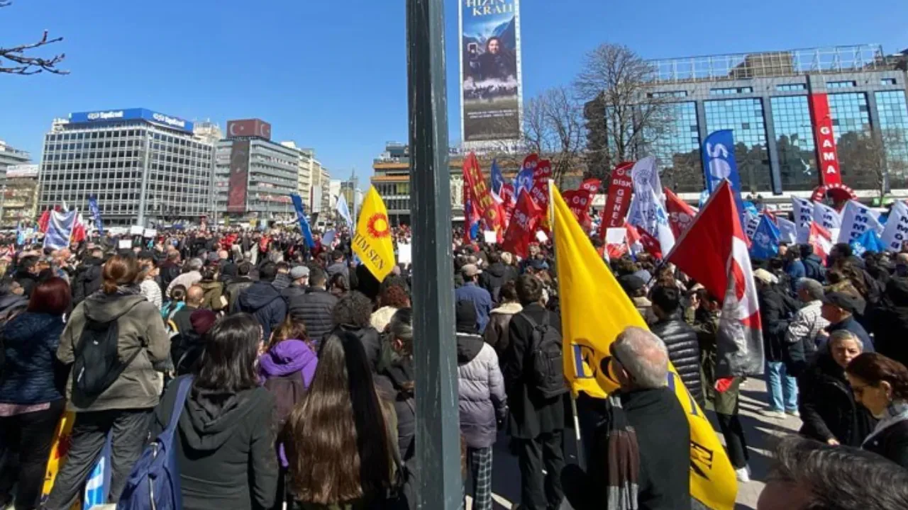
[[[524,95],[570,83],[597,44],[646,58],[834,44],[908,47],[905,0],[523,0]],[[407,141],[404,0],[14,0],[0,45],[64,35],[68,76],[0,75],[0,139],[41,151],[54,117],[145,107],[222,124],[260,117],[334,177],[370,174]],[[457,10],[447,0],[451,143],[459,137]]]

